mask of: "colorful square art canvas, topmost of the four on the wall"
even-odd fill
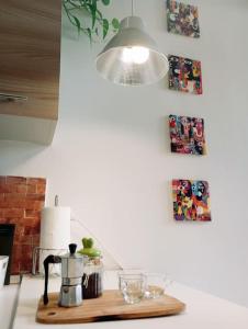
[[[167,0],[168,32],[200,37],[198,7]]]

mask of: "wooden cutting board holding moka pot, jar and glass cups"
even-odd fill
[[[185,305],[180,300],[164,295],[156,299],[143,299],[131,305],[123,300],[119,291],[104,291],[99,298],[84,299],[78,307],[59,307],[58,294],[48,294],[49,303],[44,306],[38,302],[36,321],[41,324],[83,324],[106,320],[125,320],[160,317],[181,313]]]

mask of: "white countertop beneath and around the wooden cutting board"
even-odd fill
[[[116,273],[106,272],[105,288],[116,288]],[[48,291],[59,290],[60,279],[49,281]],[[13,329],[116,329],[116,321],[80,324],[80,325],[42,325],[35,322],[37,302],[43,294],[44,280],[25,276],[22,281],[19,306]],[[117,321],[119,329],[247,329],[248,308],[238,306],[225,299],[173,283],[167,293],[187,304],[183,314],[170,317],[122,320]],[[2,328],[2,327],[1,327]]]

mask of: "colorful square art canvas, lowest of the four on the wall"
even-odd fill
[[[172,194],[176,220],[211,220],[206,181],[172,180]]]

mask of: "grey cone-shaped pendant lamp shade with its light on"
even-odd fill
[[[99,73],[117,84],[150,84],[160,80],[168,69],[167,57],[157,50],[137,16],[125,18],[119,33],[97,57]]]

